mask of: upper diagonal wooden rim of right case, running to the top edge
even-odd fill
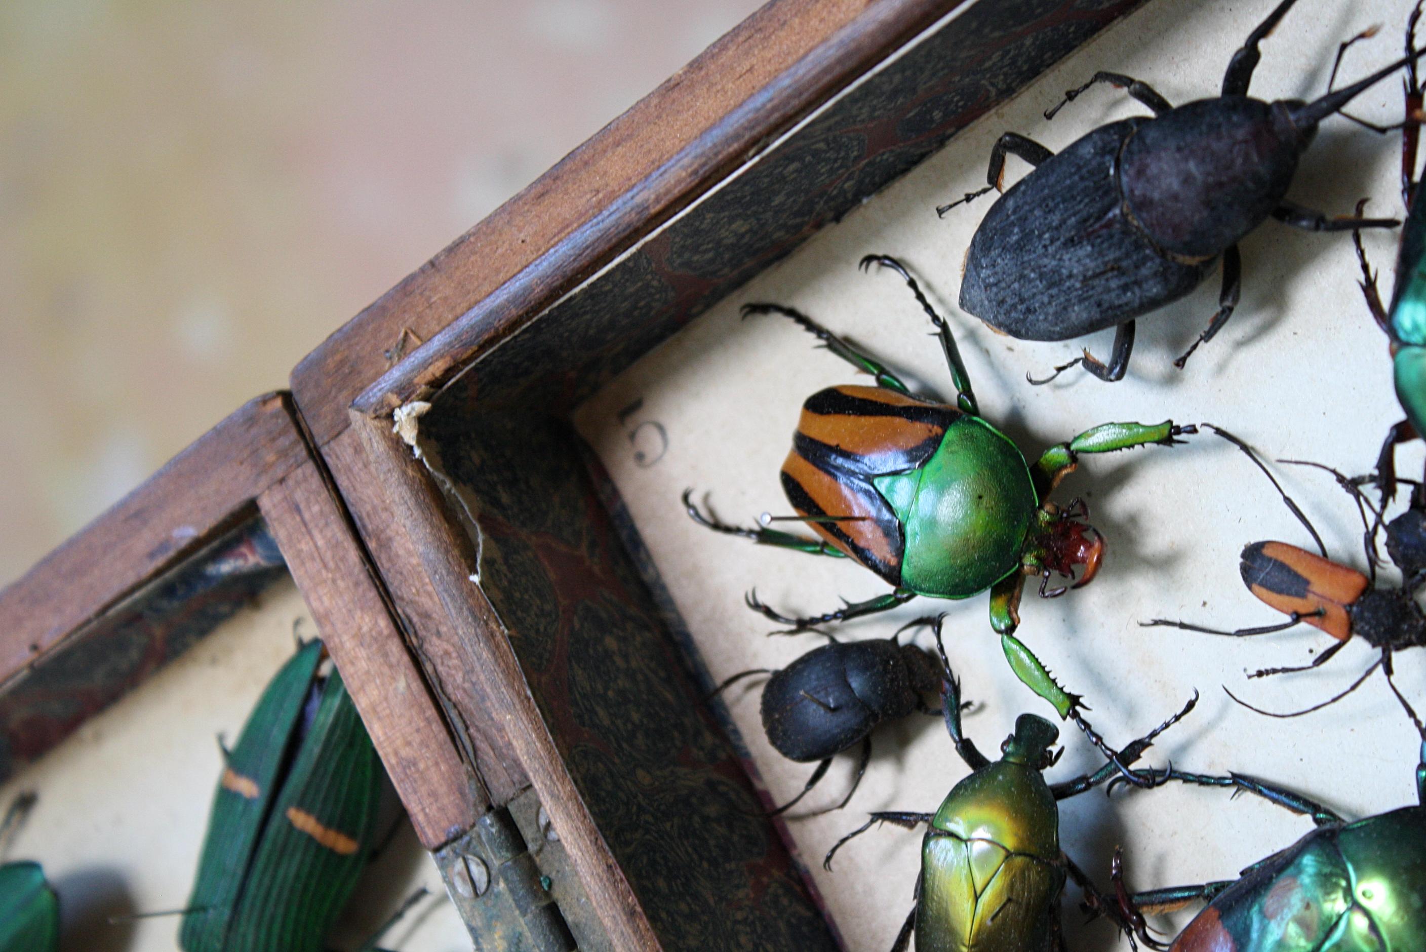
[[[769,3],[304,358],[317,445],[349,403],[379,416],[446,382],[965,1]]]

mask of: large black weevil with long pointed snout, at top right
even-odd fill
[[[965,257],[960,305],[997,331],[1022,341],[1067,341],[1118,326],[1104,363],[1084,355],[1101,381],[1124,376],[1134,348],[1134,319],[1196,288],[1224,259],[1219,308],[1182,368],[1238,304],[1238,241],[1276,218],[1309,231],[1395,227],[1396,219],[1329,218],[1285,198],[1298,160],[1318,124],[1406,60],[1312,103],[1265,103],[1248,95],[1258,44],[1296,0],[1283,0],[1228,64],[1222,94],[1172,107],[1152,87],[1121,73],[1097,73],[1060,107],[1097,83],[1127,88],[1154,115],[1109,123],[1058,154],[1017,133],[991,151],[990,185],[943,205],[970,201],[1001,185],[1005,155],[1034,170],[991,207]],[[1419,56],[1416,53],[1412,54]]]

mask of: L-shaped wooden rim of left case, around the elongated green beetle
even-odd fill
[[[0,690],[260,514],[421,842],[436,849],[459,837],[489,801],[285,390],[244,403],[0,590]]]

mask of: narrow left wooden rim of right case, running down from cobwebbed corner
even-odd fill
[[[499,614],[472,579],[478,554],[465,529],[448,517],[435,477],[392,432],[388,420],[351,410],[349,429],[359,438],[371,472],[385,487],[391,523],[402,527],[441,610],[453,630],[463,633],[462,643],[471,657],[462,670],[448,670],[443,676],[453,683],[472,684],[501,713],[503,737],[559,829],[560,842],[615,948],[660,948],[560,758]]]

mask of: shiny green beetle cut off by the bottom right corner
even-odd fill
[[[1172,780],[1231,787],[1310,817],[1316,829],[1242,871],[1238,879],[1131,896],[1135,912],[1208,906],[1174,952],[1419,952],[1426,948],[1426,733],[1417,804],[1348,822],[1322,804],[1252,777],[1166,771]]]

